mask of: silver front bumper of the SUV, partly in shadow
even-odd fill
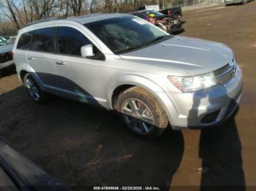
[[[181,129],[219,124],[236,110],[241,99],[242,84],[242,71],[237,67],[236,77],[225,85],[195,93],[170,93],[175,108],[171,113],[167,112],[170,125],[173,129]],[[206,120],[210,115],[210,120]]]

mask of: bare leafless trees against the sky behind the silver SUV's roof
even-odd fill
[[[0,9],[15,26],[5,30],[7,23],[0,23],[0,30],[17,31],[26,23],[47,17],[68,17],[92,12],[130,12],[143,4],[163,4],[174,0],[0,0]],[[183,0],[179,0],[183,1]],[[0,33],[1,33],[0,31]]]

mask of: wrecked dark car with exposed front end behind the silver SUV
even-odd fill
[[[129,12],[130,15],[135,15],[144,20],[147,20],[149,23],[158,26],[163,31],[167,33],[175,33],[177,31],[181,31],[182,23],[176,16],[168,16],[164,15],[161,12],[155,12],[151,10],[142,10],[137,12]]]

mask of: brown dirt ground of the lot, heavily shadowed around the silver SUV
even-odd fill
[[[180,35],[222,42],[236,53],[244,91],[233,119],[207,130],[167,130],[156,141],[143,141],[105,110],[64,98],[34,104],[16,74],[5,72],[0,74],[0,138],[82,190],[149,184],[173,186],[170,190],[255,189],[249,186],[256,186],[256,2],[190,10],[184,20]]]

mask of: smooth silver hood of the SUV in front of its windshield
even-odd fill
[[[120,55],[128,61],[182,69],[197,75],[225,66],[233,52],[225,44],[185,36],[173,36],[163,42]]]

